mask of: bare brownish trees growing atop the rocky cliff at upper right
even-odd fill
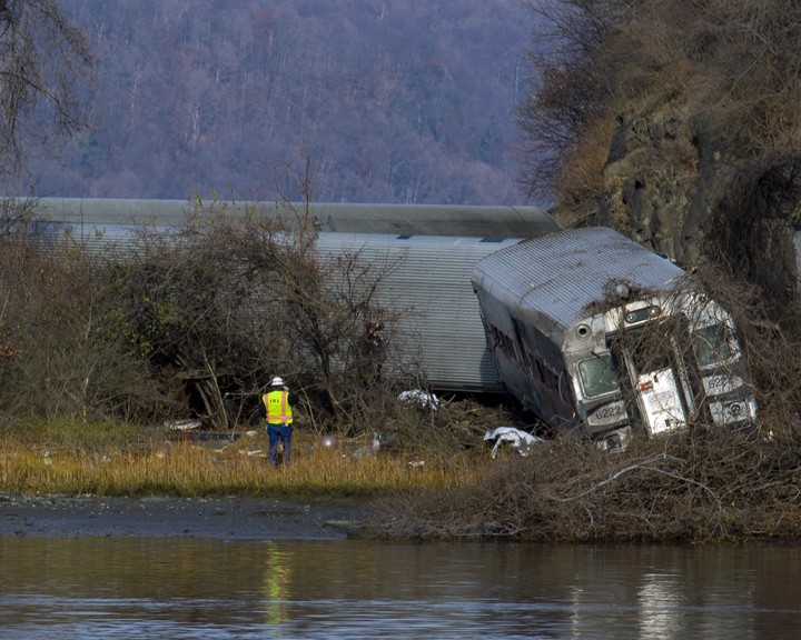
[[[610,197],[604,168],[626,151],[620,124],[671,109],[693,151],[662,164],[692,173],[719,158],[740,170],[798,146],[801,9],[781,0],[527,0],[540,32],[518,111],[521,182],[590,210]],[[620,121],[619,121],[620,120]],[[647,138],[641,127],[633,136]],[[711,150],[711,151],[710,151]],[[643,162],[637,163],[642,170]],[[722,170],[722,169],[721,169]],[[708,180],[711,178],[706,177]],[[723,188],[724,189],[724,188]]]

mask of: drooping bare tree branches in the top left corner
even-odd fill
[[[53,0],[0,0],[0,169],[18,172],[29,144],[86,126],[79,87],[92,76],[83,31]]]

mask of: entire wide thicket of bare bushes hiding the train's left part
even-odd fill
[[[364,349],[365,327],[397,310],[375,302],[392,262],[357,251],[322,259],[312,212],[279,217],[222,202],[187,206],[184,227],[126,234],[41,234],[9,212],[0,243],[0,416],[211,430],[247,424],[274,374],[301,397],[298,424],[340,439],[382,432],[405,451],[458,449],[454,409],[399,401],[427,391],[418,370]],[[369,361],[367,361],[369,360]],[[369,374],[367,374],[369,372]]]

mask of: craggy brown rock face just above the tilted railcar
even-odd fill
[[[704,256],[782,309],[801,289],[801,152],[738,156],[679,108],[622,113],[591,223],[691,267]]]

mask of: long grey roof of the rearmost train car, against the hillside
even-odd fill
[[[234,214],[280,216],[288,220],[306,208],[304,203],[248,201],[215,202],[214,206]],[[33,212],[40,218],[86,224],[180,227],[197,207],[188,200],[40,198],[32,201]],[[530,238],[561,229],[547,211],[537,207],[312,202],[308,208],[322,232]]]

